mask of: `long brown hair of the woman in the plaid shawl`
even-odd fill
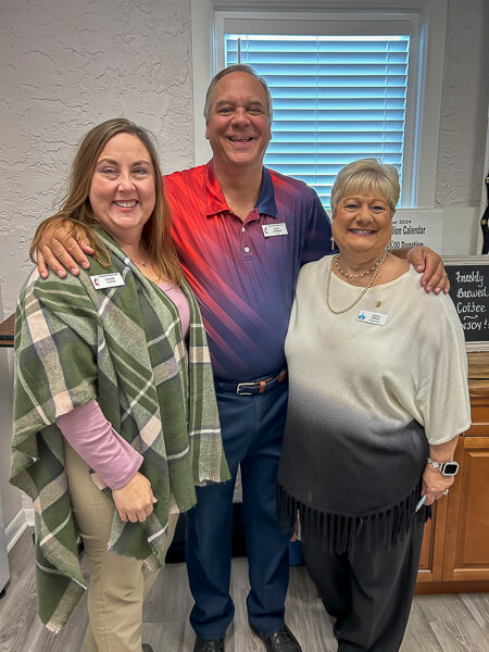
[[[151,158],[155,179],[155,203],[150,218],[142,228],[141,240],[148,249],[151,262],[162,269],[164,277],[179,284],[181,268],[170,234],[172,216],[168,202],[164,196],[156,148],[146,129],[124,117],[108,120],[97,125],[83,139],[73,161],[68,191],[62,208],[50,220],[46,220],[39,225],[30,244],[30,260],[35,262],[34,254],[47,228],[54,226],[55,223],[71,223],[72,235],[75,238],[78,236],[86,237],[90,247],[93,248],[93,258],[103,266],[110,264],[110,254],[100,242],[93,228],[98,223],[90,204],[89,192],[100,154],[109,140],[118,134],[136,136],[146,147]]]

